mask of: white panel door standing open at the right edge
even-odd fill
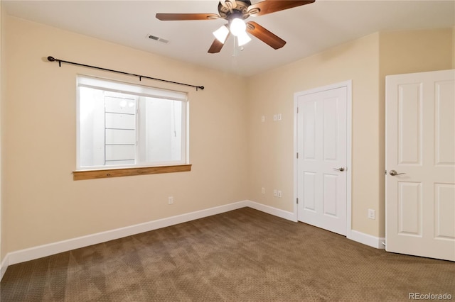
[[[455,70],[385,82],[386,250],[455,261]]]

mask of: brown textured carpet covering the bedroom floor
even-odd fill
[[[0,285],[2,302],[455,299],[455,263],[242,208],[14,264]]]

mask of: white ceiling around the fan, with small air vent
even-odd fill
[[[155,14],[218,13],[217,0],[2,2],[11,16],[245,76],[380,30],[455,26],[454,0],[316,0],[313,4],[254,18],[287,41],[281,49],[274,50],[252,37],[244,50],[235,50],[230,37],[220,53],[209,54],[207,50],[214,39],[212,32],[225,20],[159,21]],[[147,38],[148,35],[170,42],[160,43]]]

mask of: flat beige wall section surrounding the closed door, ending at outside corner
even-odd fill
[[[378,72],[379,35],[375,33],[251,77],[250,198],[294,211],[294,93],[352,79],[353,228],[378,234],[377,221],[366,216],[368,208],[378,211],[380,206]],[[272,121],[274,113],[282,113],[281,122]],[[262,115],[266,123],[261,123]],[[262,186],[266,194],[260,193]],[[282,189],[282,198],[270,194],[274,188]]]

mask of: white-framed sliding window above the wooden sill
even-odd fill
[[[187,97],[77,77],[77,170],[187,163]]]

